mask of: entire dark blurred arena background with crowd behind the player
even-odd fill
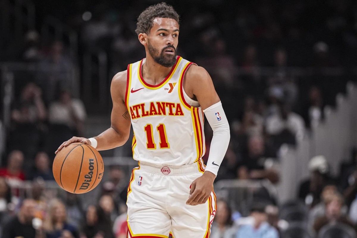
[[[52,161],[109,128],[111,79],[145,57],[136,19],[157,2],[0,0],[2,237],[126,237],[131,144],[101,151],[85,195]],[[230,122],[210,237],[356,237],[357,2],[166,2],[178,55],[207,69]]]

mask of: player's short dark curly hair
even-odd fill
[[[151,27],[154,25],[154,19],[162,17],[162,18],[171,18],[179,23],[180,16],[177,14],[175,9],[166,4],[166,2],[161,2],[152,6],[147,7],[139,17],[137,18],[136,23],[136,34],[140,33],[149,34]]]

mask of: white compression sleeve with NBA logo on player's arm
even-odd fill
[[[213,130],[213,138],[211,141],[210,154],[208,155],[206,171],[210,171],[217,175],[231,137],[228,120],[223,111],[221,101],[206,108],[203,112]]]

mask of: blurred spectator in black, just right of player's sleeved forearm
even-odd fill
[[[238,165],[238,179],[268,179],[272,183],[279,181],[274,161],[267,158],[262,136],[251,136],[248,139],[248,152]]]

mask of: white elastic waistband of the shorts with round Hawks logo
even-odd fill
[[[147,172],[151,172],[153,174],[159,175],[185,175],[185,174],[193,174],[196,172],[203,172],[204,170],[200,170],[199,162],[195,162],[189,165],[156,165],[148,162],[140,162],[140,169],[145,170]]]

